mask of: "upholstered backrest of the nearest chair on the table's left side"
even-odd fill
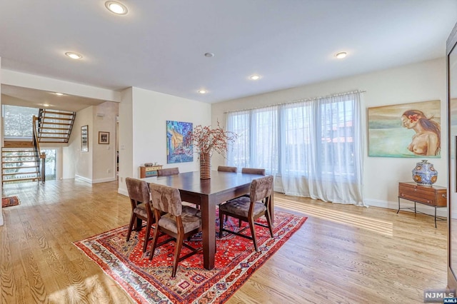
[[[172,216],[181,216],[183,204],[178,188],[149,183],[151,189],[152,206]]]

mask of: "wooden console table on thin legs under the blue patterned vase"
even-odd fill
[[[446,188],[441,186],[418,186],[417,183],[404,182],[398,183],[398,211],[401,209],[414,210],[414,213],[422,213],[427,216],[431,214],[416,211],[416,203],[421,203],[435,208],[435,228],[436,221],[446,221],[446,218],[436,217],[436,208],[447,206]],[[414,208],[400,208],[400,198],[414,202]],[[397,211],[397,213],[398,213]]]

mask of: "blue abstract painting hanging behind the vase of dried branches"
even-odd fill
[[[184,145],[184,136],[191,132],[192,123],[166,121],[166,162],[187,163],[194,161],[194,146]]]

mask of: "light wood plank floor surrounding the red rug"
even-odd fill
[[[129,222],[117,183],[4,185],[0,303],[132,303],[72,244]],[[446,288],[446,221],[276,194],[308,220],[228,303],[423,303]]]

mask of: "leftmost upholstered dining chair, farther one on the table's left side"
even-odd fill
[[[127,191],[131,203],[131,217],[129,231],[127,232],[126,241],[130,240],[131,230],[139,231],[143,228],[143,221],[146,221],[146,235],[144,235],[143,252],[146,251],[151,226],[154,224],[154,213],[151,210],[149,186],[146,181],[136,178],[126,178]]]

